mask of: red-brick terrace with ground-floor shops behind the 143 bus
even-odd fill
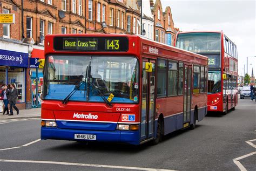
[[[0,24],[0,53],[16,60],[0,59],[0,84],[16,84],[19,108],[40,107],[43,69],[30,68],[29,59],[44,59],[45,35],[140,35],[140,8],[137,0],[23,0],[22,10],[21,0],[2,0],[0,12],[14,13],[15,24]],[[142,8],[145,36],[173,45],[177,29],[170,7],[163,11],[160,0],[143,0]]]

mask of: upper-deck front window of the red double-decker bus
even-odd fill
[[[176,47],[196,53],[219,53],[220,43],[220,33],[181,33],[178,35]]]

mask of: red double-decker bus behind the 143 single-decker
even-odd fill
[[[179,32],[176,47],[208,57],[208,111],[227,113],[238,103],[237,46],[223,31]]]

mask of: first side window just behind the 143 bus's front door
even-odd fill
[[[166,96],[166,72],[167,60],[158,59],[158,73],[157,73],[157,96]]]

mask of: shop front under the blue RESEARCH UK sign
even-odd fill
[[[10,48],[17,51],[8,50]],[[26,102],[28,59],[28,46],[0,42],[0,86],[15,84],[18,90],[17,106],[20,109],[25,108]]]

